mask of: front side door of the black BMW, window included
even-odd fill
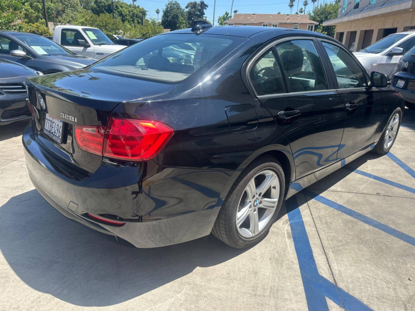
[[[345,158],[374,143],[379,122],[383,119],[381,92],[368,87],[369,77],[342,46],[322,41],[332,65],[337,92],[346,115],[344,134],[337,158]]]

